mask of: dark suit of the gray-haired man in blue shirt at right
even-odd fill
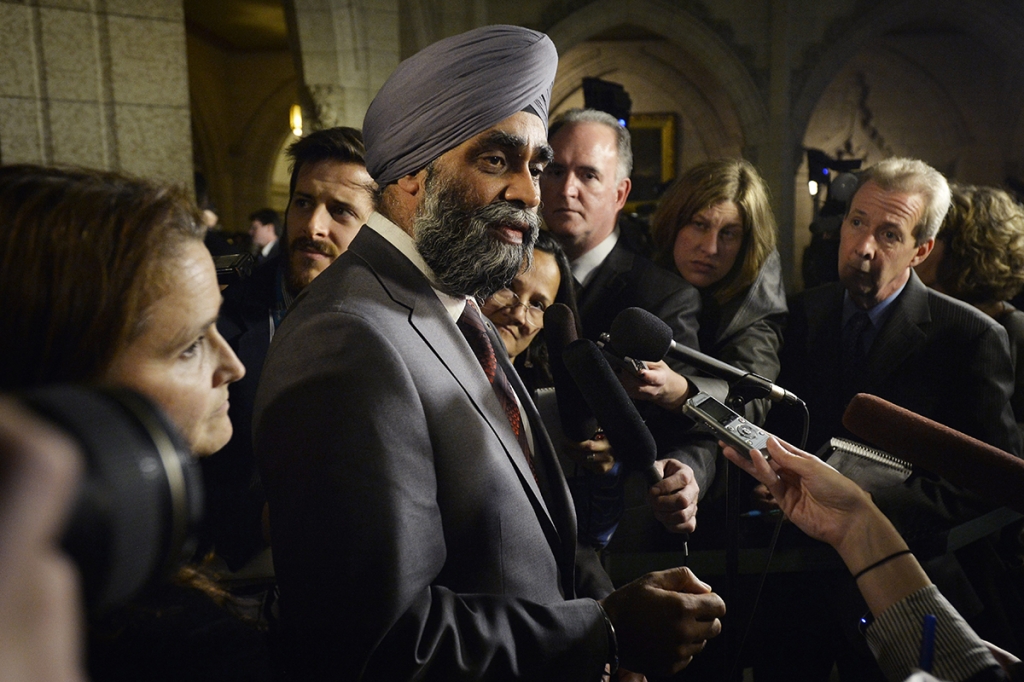
[[[844,291],[842,284],[831,283],[790,303],[778,383],[807,401],[811,452],[831,436],[852,437],[842,425],[853,397],[842,379]],[[912,271],[891,305],[868,349],[860,390],[1018,453],[1005,330],[976,308],[928,289]],[[800,425],[783,421],[794,412],[773,410],[768,428],[799,442]],[[945,553],[945,536],[956,523],[987,511],[984,501],[926,471],[915,471],[906,483],[876,491],[872,497],[942,593],[977,627],[973,619],[982,614],[983,602],[996,604],[976,594],[957,557]],[[806,541],[786,530],[780,546]],[[975,544],[965,551],[988,556],[990,548]],[[780,574],[767,588],[762,617],[775,621],[763,626],[772,634],[764,642],[763,667],[758,667],[776,676],[767,679],[826,679],[836,656],[842,669],[857,671],[851,679],[881,678],[854,628],[866,607],[846,570]],[[788,648],[794,646],[798,648]],[[816,675],[809,672],[815,666]]]

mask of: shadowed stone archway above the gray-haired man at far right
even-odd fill
[[[1024,12],[992,4],[904,2],[859,19],[808,72],[793,106],[798,139],[867,163],[919,157],[950,179],[1000,184],[1024,168],[1024,50],[1014,38]],[[810,241],[806,180],[804,163],[794,183],[797,263]]]

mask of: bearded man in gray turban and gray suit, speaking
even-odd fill
[[[721,627],[685,568],[612,592],[578,559],[551,441],[476,307],[532,253],[556,62],[543,34],[477,29],[367,113],[379,212],[296,301],[257,395],[294,679],[664,674]]]

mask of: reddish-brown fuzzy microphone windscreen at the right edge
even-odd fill
[[[1024,513],[1024,461],[876,395],[858,393],[843,425],[890,455]]]

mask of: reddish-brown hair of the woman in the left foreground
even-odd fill
[[[0,388],[98,380],[143,330],[167,261],[204,232],[180,188],[0,167]]]

